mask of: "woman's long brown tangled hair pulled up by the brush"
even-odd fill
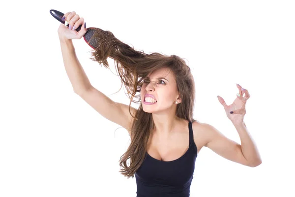
[[[99,29],[91,39],[99,41],[99,45],[91,53],[93,61],[109,68],[107,58],[115,62],[116,71],[124,84],[128,97],[129,113],[131,102],[140,103],[131,126],[131,143],[127,151],[120,157],[121,174],[127,178],[134,177],[134,173],[143,163],[150,131],[154,126],[152,114],[143,110],[140,91],[143,81],[149,73],[160,68],[170,68],[175,75],[177,91],[181,102],[177,104],[176,115],[181,119],[194,122],[193,110],[195,102],[195,83],[191,69],[185,61],[176,55],[166,56],[160,53],[146,54],[137,51],[118,40],[110,31]],[[90,39],[90,40],[91,40]],[[139,93],[139,94],[137,94]],[[130,159],[129,166],[127,160]]]

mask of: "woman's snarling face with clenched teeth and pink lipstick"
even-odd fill
[[[150,96],[148,96],[149,94]],[[153,97],[150,99],[149,97]],[[163,112],[175,105],[178,99],[177,84],[174,73],[169,68],[161,68],[150,73],[141,89],[143,110],[148,113]]]

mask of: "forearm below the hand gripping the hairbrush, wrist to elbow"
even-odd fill
[[[91,87],[89,79],[81,66],[72,40],[59,38],[63,64],[75,93],[79,94]]]

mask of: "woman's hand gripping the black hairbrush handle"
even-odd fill
[[[86,23],[84,23],[84,18],[80,18],[76,12],[67,12],[63,15],[65,17],[64,21],[69,22],[69,27],[64,24],[60,24],[58,33],[59,39],[80,39],[87,32]],[[84,26],[85,24],[85,26]],[[82,25],[79,32],[76,29]],[[72,28],[72,29],[70,29]]]

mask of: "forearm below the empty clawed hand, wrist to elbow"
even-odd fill
[[[253,166],[261,164],[262,160],[257,146],[247,130],[245,123],[243,122],[241,125],[234,126],[241,139],[241,149],[245,159]]]

